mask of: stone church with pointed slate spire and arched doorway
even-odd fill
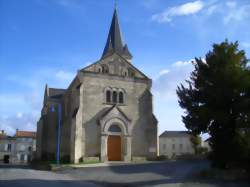
[[[37,122],[37,157],[79,163],[158,154],[152,80],[132,64],[114,9],[101,58],[78,70],[67,89],[45,86]]]

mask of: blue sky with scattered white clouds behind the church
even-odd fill
[[[114,0],[0,0],[0,129],[35,130],[44,86],[66,88],[101,57]],[[249,0],[119,0],[133,64],[153,79],[163,130],[184,130],[177,85],[213,43],[238,40],[250,56]]]

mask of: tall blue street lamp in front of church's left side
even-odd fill
[[[57,146],[56,146],[56,164],[60,165],[60,137],[61,137],[61,122],[62,122],[62,105],[61,103],[57,103],[58,105],[58,130],[57,130]],[[51,107],[51,112],[55,112],[54,105]]]

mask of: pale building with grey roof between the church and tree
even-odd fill
[[[194,154],[188,131],[165,131],[159,137],[159,153],[169,158]]]

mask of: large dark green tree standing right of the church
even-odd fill
[[[250,163],[250,69],[238,42],[214,44],[205,61],[196,58],[187,86],[177,88],[185,126],[209,133],[217,166]]]

